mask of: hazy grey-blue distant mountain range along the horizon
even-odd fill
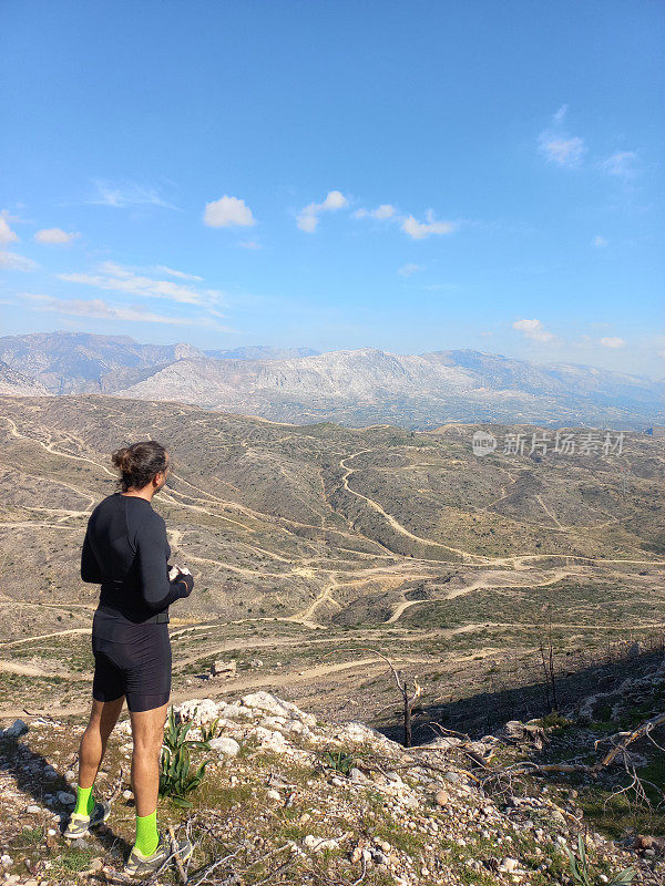
[[[665,383],[637,375],[473,350],[310,351],[257,346],[204,352],[182,342],[139,344],[129,336],[76,332],[0,338],[0,360],[58,394],[171,400],[297,424],[665,423]]]

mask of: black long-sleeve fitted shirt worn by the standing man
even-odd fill
[[[136,624],[164,612],[161,620],[167,621],[168,606],[187,597],[194,586],[188,575],[168,580],[170,557],[163,517],[146,498],[116,492],[90,515],[81,578],[101,584],[99,609],[104,620]]]

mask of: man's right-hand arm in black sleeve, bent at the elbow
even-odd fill
[[[174,600],[188,597],[194,587],[191,575],[180,573],[168,580],[166,558],[166,528],[163,521],[145,521],[136,532],[136,557],[141,589],[145,606],[152,612],[161,612]]]

